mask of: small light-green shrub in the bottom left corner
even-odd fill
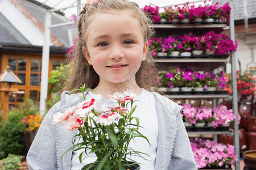
[[[9,154],[7,158],[3,159],[2,170],[16,170],[19,169],[19,164],[22,162],[24,156]]]

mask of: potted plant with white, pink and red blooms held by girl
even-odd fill
[[[117,105],[96,111],[95,106],[101,95],[85,101],[84,92],[88,89],[82,86],[77,90],[81,91],[84,101],[69,108],[65,113],[53,114],[53,125],[65,121],[65,128],[71,131],[78,129],[79,133],[75,137],[82,139],[80,143],[73,143],[64,154],[73,148],[82,149],[85,154],[94,153],[97,156],[96,162],[85,165],[84,169],[124,169],[138,165],[134,161],[130,163],[127,155],[142,156],[143,153],[134,151],[129,147],[129,143],[137,137],[142,137],[147,142],[148,139],[139,133],[139,120],[133,117],[136,109],[136,105],[133,105],[136,96],[134,91],[114,93],[111,97],[117,100]]]

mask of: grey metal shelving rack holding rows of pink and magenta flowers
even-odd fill
[[[235,41],[234,36],[234,14],[233,14],[233,0],[229,1],[231,7],[229,26],[226,24],[158,24],[153,27],[162,32],[160,36],[164,35],[164,32],[179,30],[178,32],[186,32],[197,30],[198,32],[206,32],[214,30],[216,33],[220,33],[224,30],[229,30],[230,39]],[[156,32],[157,32],[156,31]],[[166,35],[164,35],[166,36]],[[192,67],[200,65],[201,70],[214,70],[224,65],[225,63],[231,62],[232,65],[232,91],[233,91],[233,113],[238,117],[238,104],[237,104],[237,79],[236,79],[236,54],[232,53],[230,58],[156,58],[155,62],[163,63],[164,69],[175,69],[176,67],[187,66]],[[171,66],[168,63],[175,63],[175,66]],[[167,65],[167,66],[166,66]],[[198,70],[195,67],[195,70]],[[229,97],[229,95],[213,94],[213,95],[165,95],[170,99],[221,99]],[[188,134],[232,134],[234,135],[234,148],[237,158],[240,158],[240,146],[239,146],[239,135],[238,135],[238,118],[234,120],[234,131],[188,131]],[[240,162],[237,161],[235,169],[240,170]]]

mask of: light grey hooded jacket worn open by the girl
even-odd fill
[[[68,107],[83,100],[80,96],[68,94],[68,91],[64,91],[61,100],[46,114],[27,154],[29,169],[71,169],[72,151],[65,154],[61,162],[60,158],[65,151],[73,146],[71,140],[76,131],[66,130],[64,123],[51,124],[52,114],[65,112]],[[159,124],[155,169],[197,169],[187,131],[180,115],[182,107],[156,92],[152,92],[152,94],[155,96]]]

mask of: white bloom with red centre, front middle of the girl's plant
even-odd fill
[[[96,118],[97,124],[104,126],[109,126],[113,124],[118,118],[123,118],[120,114],[116,112],[104,112]]]

